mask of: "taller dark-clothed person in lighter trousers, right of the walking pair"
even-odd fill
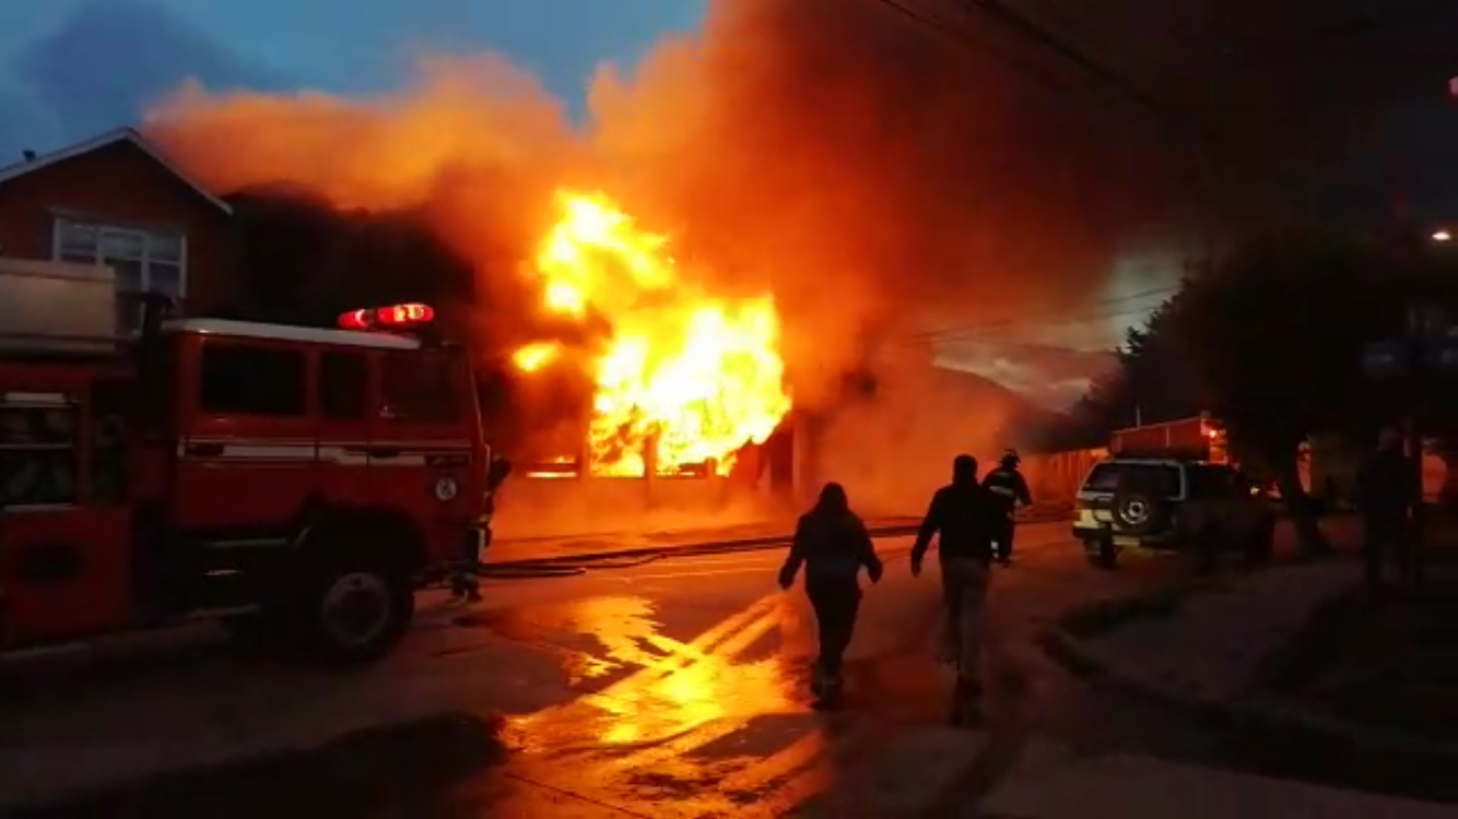
[[[911,574],[921,574],[921,561],[932,538],[937,538],[942,560],[943,631],[949,659],[956,665],[952,695],[952,724],[964,726],[977,718],[981,698],[981,641],[991,574],[993,536],[1002,510],[990,493],[977,482],[977,459],[958,455],[952,461],[952,482],[932,495],[911,548]]]

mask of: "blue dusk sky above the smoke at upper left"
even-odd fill
[[[0,3],[0,156],[112,128],[190,74],[208,86],[391,87],[418,51],[490,48],[569,105],[602,61],[691,31],[706,0],[47,0]],[[347,9],[347,12],[346,12]],[[82,55],[92,70],[82,70]],[[105,71],[95,71],[108,66]]]

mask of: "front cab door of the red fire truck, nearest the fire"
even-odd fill
[[[478,434],[464,358],[451,350],[385,351],[370,440],[376,503],[407,510],[432,554],[453,557],[481,500],[472,463]]]

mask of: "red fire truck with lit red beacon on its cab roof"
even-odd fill
[[[0,300],[22,278],[0,270]],[[60,318],[106,313],[85,305],[109,283],[82,290]],[[121,342],[0,334],[0,650],[217,618],[331,662],[388,653],[416,589],[490,541],[506,465],[468,356],[407,332],[423,305],[318,329],[144,302]]]

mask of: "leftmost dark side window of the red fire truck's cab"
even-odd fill
[[[308,410],[302,350],[213,341],[203,345],[201,370],[203,412],[287,418]]]

